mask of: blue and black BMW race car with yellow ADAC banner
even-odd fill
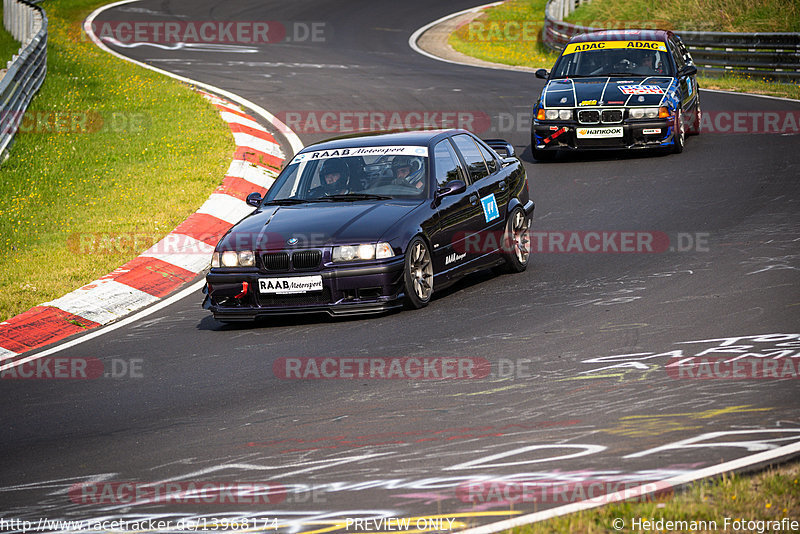
[[[531,151],[661,148],[682,152],[700,126],[697,68],[680,38],[665,30],[576,35],[533,108]]]

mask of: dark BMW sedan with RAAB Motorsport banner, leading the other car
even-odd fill
[[[311,145],[247,202],[206,276],[220,321],[421,308],[471,272],[529,260],[525,169],[506,141],[464,130]]]

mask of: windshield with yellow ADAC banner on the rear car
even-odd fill
[[[577,43],[608,44],[600,43]],[[585,78],[588,76],[672,76],[666,47],[663,50],[641,48],[590,48],[569,47],[558,58],[551,79]],[[570,45],[570,46],[574,46]]]

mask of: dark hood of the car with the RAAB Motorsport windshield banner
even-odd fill
[[[283,250],[376,242],[421,204],[385,200],[263,206],[231,228],[218,248]]]

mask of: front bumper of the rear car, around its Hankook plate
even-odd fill
[[[531,142],[537,150],[613,150],[671,146],[674,119],[624,121],[618,124],[579,124],[575,121],[538,121],[532,125]],[[621,137],[579,138],[578,130],[622,127]],[[562,133],[557,134],[560,130]]]

